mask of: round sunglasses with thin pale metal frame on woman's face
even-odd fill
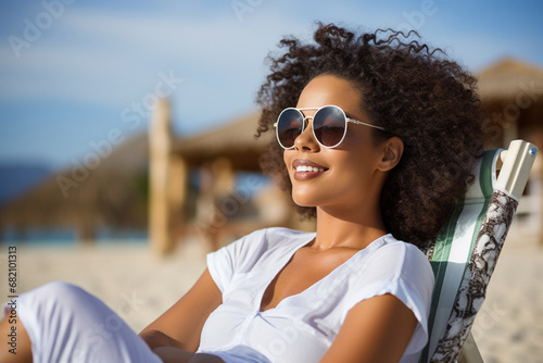
[[[302,111],[317,110],[314,116],[304,116]],[[282,110],[274,124],[277,141],[283,149],[292,149],[294,140],[305,129],[305,121],[313,118],[313,136],[317,142],[325,148],[338,147],[346,135],[346,124],[353,123],[365,125],[387,132],[384,128],[362,121],[350,118],[343,110],[337,105],[325,105],[321,108]]]

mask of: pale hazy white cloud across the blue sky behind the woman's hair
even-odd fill
[[[370,29],[395,27],[407,21],[405,14],[414,16],[421,7],[421,2],[391,8],[390,3],[343,1],[318,9],[307,2],[252,3],[256,5],[241,17],[231,2],[213,9],[182,2],[172,10],[163,0],[154,11],[139,4],[123,12],[112,10],[113,4],[91,9],[76,3],[30,48],[23,49],[20,59],[8,42],[0,45],[0,99],[64,100],[122,110],[152,90],[160,72],[173,71],[186,79],[178,93],[182,104],[213,100],[231,111],[250,103],[247,99],[252,100],[251,92],[263,79],[263,59],[282,35],[308,38],[316,18]],[[446,45],[453,57],[480,67],[503,53],[503,39],[489,32],[473,32],[472,26],[451,32],[441,26],[450,5],[438,2],[437,7],[421,33]]]

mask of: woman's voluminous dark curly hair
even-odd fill
[[[261,136],[274,130],[281,110],[294,107],[318,75],[334,75],[359,89],[362,108],[372,123],[393,132],[405,147],[380,198],[386,227],[394,237],[424,248],[464,197],[483,142],[476,78],[441,49],[418,39],[416,32],[378,29],[356,36],[319,23],[315,43],[293,37],[280,41],[287,52],[268,57],[272,72],[256,102],[262,108]],[[393,135],[372,130],[375,142]],[[279,174],[283,189],[291,192],[282,152],[274,139],[261,167],[268,175]],[[299,211],[316,215],[315,208]]]

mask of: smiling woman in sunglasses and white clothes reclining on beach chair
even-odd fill
[[[211,253],[142,339],[78,288],[29,292],[18,334],[35,361],[418,362],[433,288],[421,249],[482,150],[475,79],[401,33],[314,38],[281,41],[257,101],[258,135],[278,139],[264,170],[316,233],[257,230]]]

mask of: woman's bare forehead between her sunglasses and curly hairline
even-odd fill
[[[296,108],[336,104],[345,111],[356,112],[361,111],[361,91],[349,80],[332,75],[320,75],[313,78],[302,90]]]

